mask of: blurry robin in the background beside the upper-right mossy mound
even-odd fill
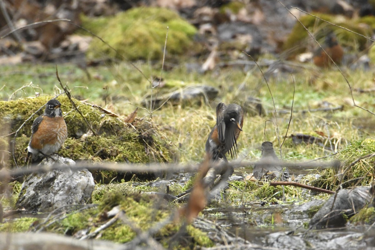
[[[342,56],[344,55],[344,50],[342,49],[341,45],[338,43],[335,34],[329,33],[326,36],[326,40],[322,47],[335,63],[337,64],[341,63]],[[323,51],[323,49],[318,48],[315,51],[313,60],[316,66],[327,68],[332,65],[332,61],[328,57],[328,55]]]

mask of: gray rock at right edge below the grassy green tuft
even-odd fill
[[[346,217],[351,217],[372,201],[370,187],[356,187],[353,190],[339,190],[323,204],[323,207],[311,218],[310,226],[344,226]],[[332,206],[333,204],[333,206]]]

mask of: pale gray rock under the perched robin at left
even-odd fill
[[[28,212],[46,212],[64,205],[85,204],[94,190],[92,174],[83,169],[72,171],[69,165],[75,162],[69,158],[53,156],[56,164],[66,168],[29,175],[21,187],[17,208]],[[58,158],[57,158],[58,157]],[[52,159],[43,159],[39,165],[55,164]]]

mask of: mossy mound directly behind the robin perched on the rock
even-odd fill
[[[0,102],[0,119],[9,127],[9,133],[17,131],[38,108],[53,98],[40,96],[37,98],[20,99]],[[133,126],[128,126],[120,118],[104,114],[99,109],[74,99],[78,109],[82,112],[97,136],[84,121],[84,118],[74,109],[65,95],[57,98],[62,103],[62,111],[68,126],[68,138],[58,151],[63,157],[73,160],[90,160],[100,162],[166,162],[170,160],[166,141],[152,123],[135,120]],[[17,165],[24,165],[28,141],[31,135],[31,124],[42,114],[44,107],[37,114],[26,121],[15,139],[15,159]],[[82,136],[84,135],[84,136]],[[87,135],[87,136],[86,136]],[[15,134],[8,137],[13,141]],[[10,144],[12,146],[12,144]],[[10,147],[9,152],[12,152]],[[14,166],[13,157],[9,155],[10,165]]]

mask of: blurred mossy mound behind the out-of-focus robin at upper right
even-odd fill
[[[313,15],[369,37],[371,37],[372,34],[372,26],[375,24],[374,17],[366,17],[353,20],[345,19],[343,16],[328,15],[323,13],[313,13]],[[308,28],[308,30],[312,34],[316,34],[314,35],[315,39],[317,39],[317,41],[320,42],[321,45],[324,44],[324,36],[326,36],[326,34],[329,32],[334,32],[338,37],[341,45],[343,45],[344,47],[351,47],[356,50],[363,50],[366,47],[366,43],[368,40],[365,37],[359,36],[347,30],[343,30],[342,28],[317,19],[314,16],[305,15],[300,17],[299,20],[306,28]],[[299,22],[296,22],[287,40],[285,41],[283,48],[284,50],[293,51],[290,54],[291,57],[306,50],[307,47],[303,45],[308,44],[304,42],[306,39],[312,38],[306,32],[305,28],[302,27]]]

